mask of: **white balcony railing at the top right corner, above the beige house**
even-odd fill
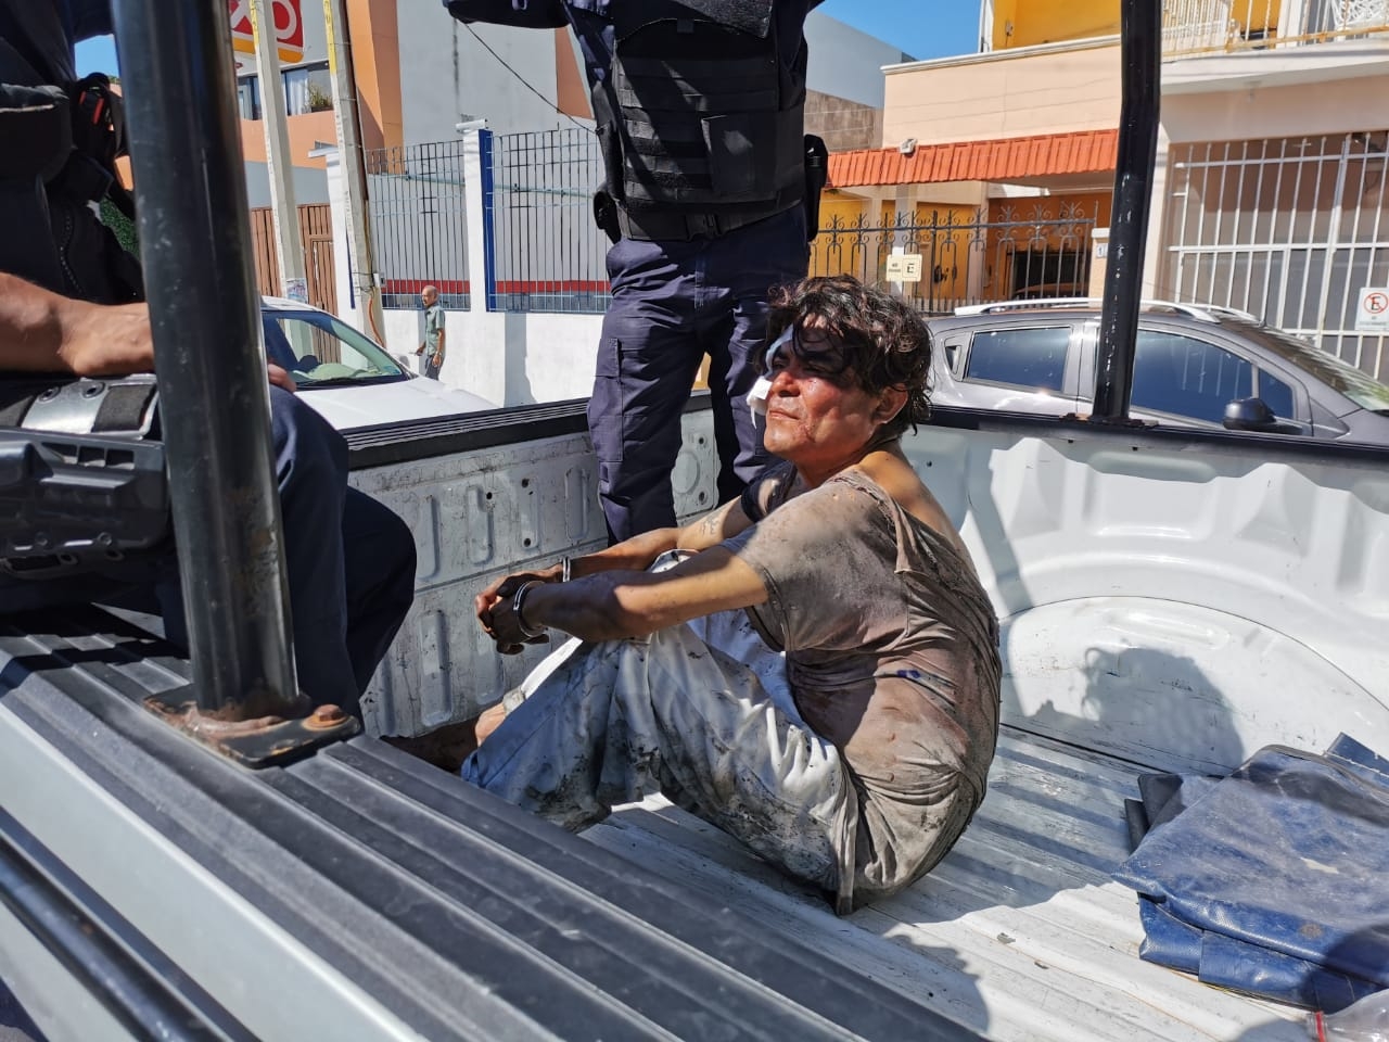
[[[1389,0],[1167,0],[1163,57],[1286,47],[1389,33]]]

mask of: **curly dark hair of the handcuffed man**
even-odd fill
[[[799,340],[813,315],[824,320],[860,388],[870,395],[888,388],[907,392],[907,404],[883,425],[885,433],[900,435],[908,427],[915,431],[929,418],[931,332],[915,308],[853,275],[807,278],[772,295],[767,343],[789,325],[796,326]],[[757,368],[765,368],[761,357]]]

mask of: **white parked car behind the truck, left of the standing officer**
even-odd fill
[[[263,297],[261,318],[265,354],[289,371],[304,402],[339,431],[497,407],[415,375],[407,363],[321,308]]]

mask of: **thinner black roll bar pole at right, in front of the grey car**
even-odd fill
[[[1121,0],[1122,107],[1092,422],[1126,422],[1157,160],[1161,0]]]

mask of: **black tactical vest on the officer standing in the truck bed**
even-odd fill
[[[593,108],[625,233],[720,235],[801,201],[806,49],[778,40],[772,0],[613,0],[607,15]]]

